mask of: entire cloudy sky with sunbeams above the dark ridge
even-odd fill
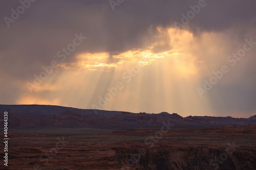
[[[250,117],[256,1],[0,1],[0,104]]]

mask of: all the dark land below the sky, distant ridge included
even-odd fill
[[[0,105],[0,112],[8,112],[9,137],[8,166],[0,169],[256,169],[256,115],[182,117],[49,105]],[[4,116],[2,139],[3,123]]]

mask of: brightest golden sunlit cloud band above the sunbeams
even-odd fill
[[[85,68],[89,70],[102,70],[102,67],[111,68],[126,66],[129,67],[137,62],[143,65],[150,65],[152,62],[162,62],[163,58],[169,58],[169,63],[172,69],[179,72],[181,77],[188,77],[197,74],[195,62],[197,59],[194,54],[189,53],[188,48],[195,48],[191,46],[192,41],[196,41],[192,33],[186,30],[178,30],[175,28],[157,27],[157,41],[153,42],[145,50],[132,49],[116,55],[110,53],[82,53],[76,56],[74,63],[61,63],[63,68]],[[168,45],[165,50],[156,50],[162,45]],[[172,45],[170,45],[172,44]],[[158,52],[156,52],[158,51]],[[115,60],[111,62],[109,59]],[[104,70],[104,69],[103,69]]]

